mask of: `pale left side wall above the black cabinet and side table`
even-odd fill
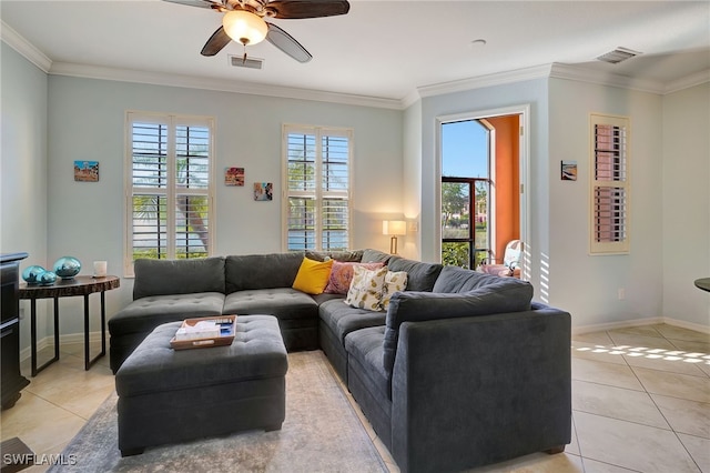
[[[4,42],[0,68],[0,252],[27,252],[20,271],[47,261],[47,74]],[[26,303],[22,303],[24,305]],[[38,302],[44,331],[45,301]],[[29,345],[29,310],[20,322],[20,343]]]

